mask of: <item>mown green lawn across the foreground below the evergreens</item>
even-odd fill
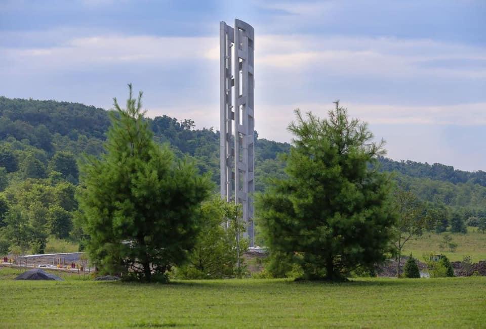
[[[14,281],[0,269],[0,327],[484,327],[486,277]]]

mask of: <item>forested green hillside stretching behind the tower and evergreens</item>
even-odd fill
[[[177,156],[194,160],[200,172],[211,175],[215,192],[219,190],[219,131],[194,129],[191,119],[147,120],[156,142],[170,143]],[[74,198],[78,163],[83,154],[103,152],[109,125],[108,111],[93,106],[0,97],[0,227],[4,226],[0,251],[12,239],[21,245],[22,234],[27,233],[37,241],[34,249],[39,252],[49,236],[79,239],[81,233],[73,229],[78,216]],[[256,137],[255,187],[261,192],[269,178],[285,176],[285,160],[278,155],[291,146]],[[463,221],[486,217],[485,172],[379,161],[381,170],[396,171],[398,186],[413,191],[438,213],[445,209],[442,216],[448,217],[447,222],[456,215]]]

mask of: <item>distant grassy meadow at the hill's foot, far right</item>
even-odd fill
[[[455,252],[439,248],[443,234],[425,232],[419,239],[407,242],[403,255],[408,255],[412,252],[414,257],[421,261],[423,261],[422,256],[430,252],[446,255],[451,261],[462,260],[466,255],[471,256],[473,262],[486,260],[486,233],[477,231],[475,227],[468,227],[466,234],[449,233],[453,242],[458,244]]]

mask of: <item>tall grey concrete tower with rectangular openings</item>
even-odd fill
[[[219,36],[221,198],[242,205],[245,236],[254,247],[254,30],[235,19],[234,28],[220,22]]]

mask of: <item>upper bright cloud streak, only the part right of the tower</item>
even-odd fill
[[[313,72],[384,77],[486,77],[486,65],[432,65],[440,61],[466,64],[469,61],[484,61],[486,64],[486,49],[461,44],[302,35],[261,36],[256,44],[256,62],[264,69],[311,69]]]

